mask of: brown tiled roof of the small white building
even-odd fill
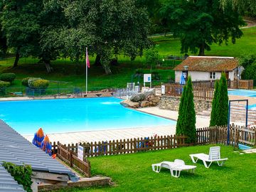
[[[190,56],[177,65],[174,70],[183,70],[185,65],[188,65],[189,71],[231,71],[238,67],[238,59],[231,57]]]

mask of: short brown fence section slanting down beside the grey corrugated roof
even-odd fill
[[[64,161],[71,168],[73,167],[78,171],[80,171],[85,176],[90,177],[90,174],[91,174],[90,161],[88,161],[87,159],[84,159],[84,161],[81,161],[80,159],[78,159],[77,154],[73,153],[73,150],[69,150],[66,146],[64,146],[63,144],[60,144],[59,142],[57,147],[58,147],[57,156],[59,159]]]

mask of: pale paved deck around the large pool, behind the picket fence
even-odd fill
[[[176,120],[178,112],[170,110],[160,110],[159,107],[147,107],[139,111],[156,114],[161,117]],[[210,119],[206,117],[196,117],[196,127],[208,127]],[[104,127],[102,127],[104,129]],[[58,134],[48,134],[51,142],[60,142],[62,144],[76,144],[78,142],[99,142],[117,139],[132,139],[138,137],[151,137],[154,134],[158,136],[175,134],[176,125],[154,126],[154,127],[137,127],[129,129],[110,129],[87,132],[68,132]],[[23,135],[28,141],[32,141],[33,135]]]

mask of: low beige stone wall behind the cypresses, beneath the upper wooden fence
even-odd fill
[[[162,95],[160,97],[159,108],[162,110],[178,111],[180,97]],[[194,99],[196,113],[211,109],[211,101]]]

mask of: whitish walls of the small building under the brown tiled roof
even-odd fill
[[[181,80],[181,70],[175,71],[175,82],[179,82]],[[199,81],[199,80],[211,80],[210,79],[210,72],[204,71],[188,71],[188,75],[191,75],[192,81]],[[220,79],[221,73],[215,72],[215,80]],[[230,80],[234,80],[234,71],[229,72]]]

